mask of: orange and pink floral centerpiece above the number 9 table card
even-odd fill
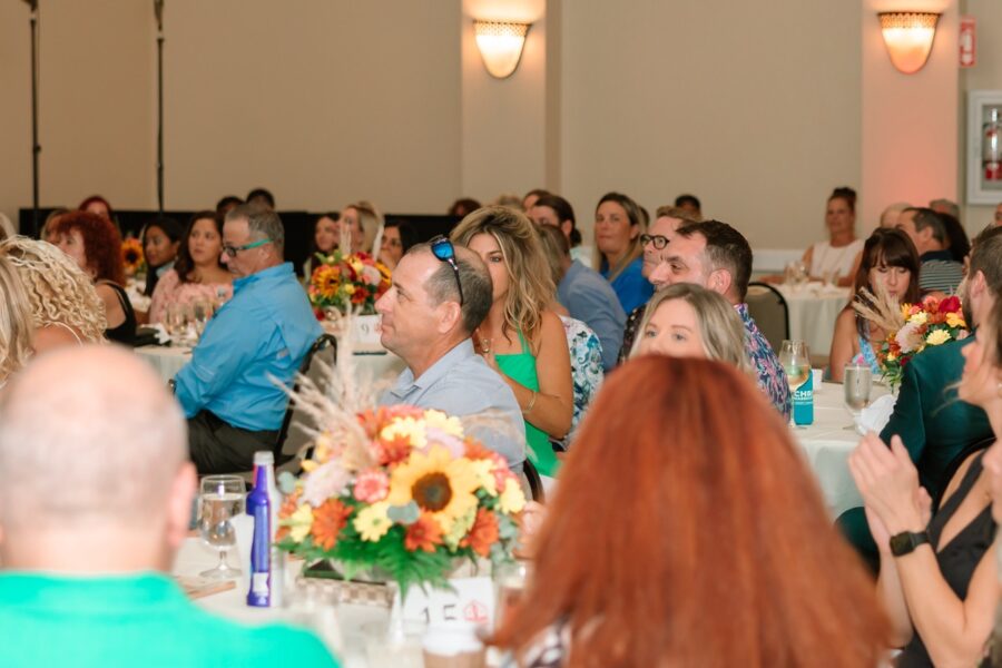
[[[318,264],[310,277],[307,294],[317,320],[326,318],[326,311],[348,311],[361,315],[375,313],[375,303],[390,289],[390,269],[367,253],[344,255],[316,254]]]

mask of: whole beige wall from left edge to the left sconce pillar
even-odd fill
[[[156,206],[153,3],[42,2],[42,206]],[[444,212],[460,191],[460,0],[168,0],[167,206],[273,189]],[[0,3],[0,210],[30,206],[28,9]],[[86,29],[85,29],[86,27]]]

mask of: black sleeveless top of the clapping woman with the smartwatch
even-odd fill
[[[940,564],[940,572],[943,573],[943,579],[950,584],[953,593],[961,600],[967,597],[971,576],[974,574],[974,569],[978,568],[985,551],[992,547],[992,539],[995,537],[995,521],[992,519],[991,503],[971,520],[971,523],[961,529],[960,533],[942,551],[939,551],[940,537],[943,534],[943,527],[960,508],[978,481],[978,477],[981,475],[983,456],[984,452],[974,456],[960,487],[929,523],[929,538],[933,549],[936,550],[936,563]],[[912,635],[912,641],[898,655],[897,666],[900,668],[932,668],[933,662],[929,658],[929,651],[917,632]]]

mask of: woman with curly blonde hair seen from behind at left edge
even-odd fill
[[[0,263],[17,271],[31,313],[31,350],[104,341],[105,307],[90,278],[56,246],[27,237],[0,242]]]

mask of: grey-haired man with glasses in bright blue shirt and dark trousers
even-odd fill
[[[199,474],[249,471],[272,450],[291,385],[321,335],[292,263],[278,215],[257,205],[226,214],[222,261],[236,276],[233,298],[206,325],[191,361],[175,377]]]

